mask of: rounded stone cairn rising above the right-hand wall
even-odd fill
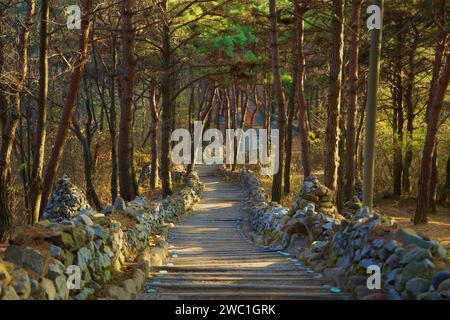
[[[337,209],[333,204],[333,196],[333,191],[321,184],[316,176],[307,177],[302,189],[292,202],[289,212],[293,215],[297,210],[302,210],[312,203],[317,212],[333,216],[337,214]]]

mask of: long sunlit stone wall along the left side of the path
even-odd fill
[[[130,298],[149,267],[161,264],[167,254],[170,221],[199,201],[203,187],[198,176],[186,180],[180,192],[161,201],[118,201],[109,214],[82,210],[60,222],[14,228],[0,256],[0,298],[84,300],[105,287],[106,297]],[[127,262],[138,262],[132,278],[106,286]],[[79,290],[68,290],[69,266],[81,270]]]

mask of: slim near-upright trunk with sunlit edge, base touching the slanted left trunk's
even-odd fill
[[[48,109],[48,20],[50,7],[48,0],[41,2],[41,18],[39,27],[39,103],[36,122],[36,141],[32,171],[31,210],[33,223],[39,221],[42,199],[42,173],[44,169],[45,137]]]

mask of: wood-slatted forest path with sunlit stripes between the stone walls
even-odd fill
[[[157,299],[340,299],[298,261],[245,239],[240,186],[196,168],[205,190],[169,237],[170,258],[137,296]],[[295,265],[297,263],[297,265]]]

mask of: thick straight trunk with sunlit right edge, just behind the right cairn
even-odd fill
[[[333,1],[331,20],[330,89],[325,133],[325,185],[336,189],[339,167],[339,116],[341,110],[342,64],[344,54],[344,2]]]

